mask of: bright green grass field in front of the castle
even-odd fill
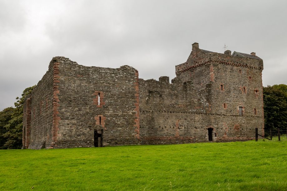
[[[287,190],[286,167],[286,137],[0,150],[0,190]]]

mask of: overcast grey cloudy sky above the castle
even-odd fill
[[[172,79],[194,42],[256,52],[263,85],[287,84],[286,8],[286,0],[0,0],[0,110],[38,83],[54,56]]]

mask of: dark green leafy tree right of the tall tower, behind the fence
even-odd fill
[[[287,128],[287,85],[263,88],[265,129]]]

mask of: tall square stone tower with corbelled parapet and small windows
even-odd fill
[[[183,81],[192,81],[196,89],[209,87],[214,140],[228,141],[254,139],[256,127],[264,131],[262,69],[260,59],[201,50],[194,44],[187,62],[176,66],[176,73]]]

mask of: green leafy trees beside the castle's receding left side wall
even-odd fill
[[[23,104],[25,98],[30,94],[35,86],[26,88],[21,98],[16,98],[15,108],[8,107],[1,113],[0,118],[3,125],[3,132],[0,132],[5,143],[0,145],[3,149],[21,149],[22,148],[22,127],[23,127]],[[0,125],[0,127],[1,127]],[[3,133],[3,134],[2,134]]]

